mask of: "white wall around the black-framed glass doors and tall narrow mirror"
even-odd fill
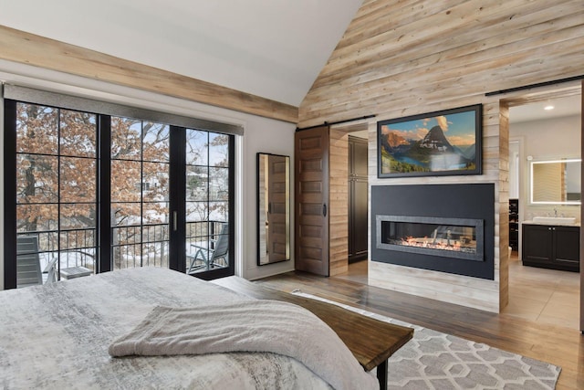
[[[243,137],[235,142],[235,273],[246,279],[257,279],[294,269],[294,253],[291,260],[258,267],[256,252],[256,175],[255,154],[258,152],[287,154],[293,160],[294,132],[296,126],[225,110],[213,106],[180,100],[141,90],[108,84],[95,79],[83,79],[47,69],[23,66],[0,60],[0,80],[6,83],[52,90],[96,100],[106,100],[145,109],[177,113],[195,118],[241,124]],[[1,102],[1,101],[0,101]],[[4,104],[0,104],[0,151],[4,151]],[[4,175],[4,156],[0,159],[0,173]],[[290,177],[294,177],[291,172]],[[291,196],[294,190],[291,188]],[[4,220],[4,181],[0,183],[0,220]],[[293,199],[291,199],[293,205]],[[293,212],[293,210],[290,210]],[[294,218],[291,218],[293,226]],[[0,290],[4,289],[4,224],[0,224]],[[293,237],[292,237],[293,239]],[[292,242],[292,248],[294,243]]]

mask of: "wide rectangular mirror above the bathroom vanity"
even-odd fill
[[[529,163],[529,200],[534,205],[580,205],[581,160]]]

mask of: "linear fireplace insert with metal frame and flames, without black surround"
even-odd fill
[[[483,261],[483,220],[376,216],[377,248]]]

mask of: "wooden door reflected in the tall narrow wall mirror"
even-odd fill
[[[268,161],[267,245],[270,262],[288,259],[287,156],[270,155]]]

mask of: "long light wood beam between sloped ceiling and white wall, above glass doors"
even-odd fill
[[[0,26],[0,58],[297,123],[298,109],[239,90]]]

